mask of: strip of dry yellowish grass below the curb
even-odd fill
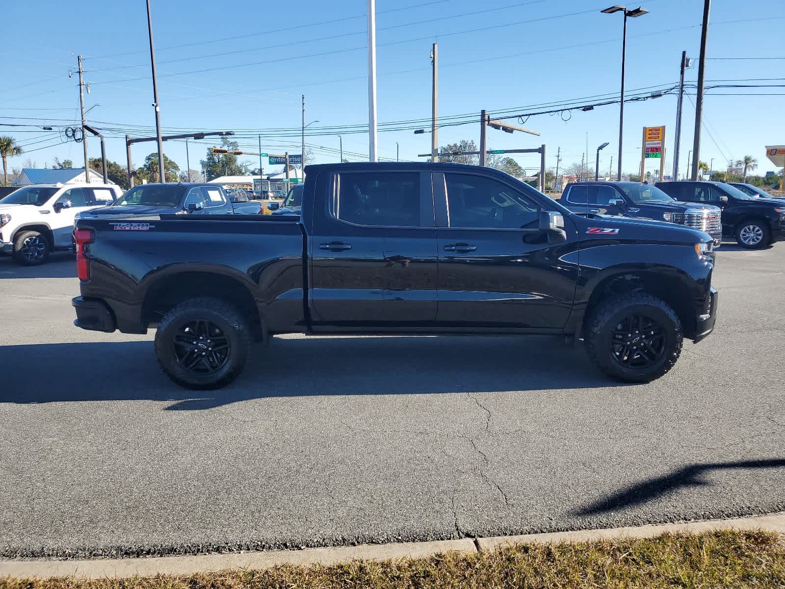
[[[278,566],[131,579],[0,579],[0,589],[267,587],[785,587],[785,549],[770,532],[666,534],[648,540],[529,544],[479,554]]]

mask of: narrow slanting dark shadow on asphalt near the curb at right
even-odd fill
[[[711,485],[711,483],[707,480],[705,475],[709,474],[712,470],[783,467],[785,467],[785,459],[692,464],[680,468],[679,470],[674,470],[674,472],[662,477],[652,478],[648,481],[638,483],[637,485],[632,485],[631,487],[615,493],[612,496],[608,496],[588,507],[575,510],[573,515],[583,518],[591,515],[600,515],[608,513],[609,511],[623,510],[627,507],[637,507],[642,503],[647,503],[648,501],[658,499],[660,496],[671,492],[677,492],[681,489],[708,486]]]

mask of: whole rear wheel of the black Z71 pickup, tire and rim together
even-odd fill
[[[250,339],[250,327],[234,306],[219,298],[192,298],[163,317],[155,332],[155,356],[178,385],[219,389],[243,371]]]

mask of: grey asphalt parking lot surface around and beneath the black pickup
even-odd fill
[[[785,510],[785,243],[726,243],[710,338],[620,385],[550,338],[275,338],[225,390],[0,258],[0,555],[168,554]]]

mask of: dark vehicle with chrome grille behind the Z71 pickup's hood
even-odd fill
[[[559,202],[578,214],[611,214],[687,225],[707,232],[715,246],[722,240],[719,208],[679,203],[644,182],[574,182],[564,188]]]

